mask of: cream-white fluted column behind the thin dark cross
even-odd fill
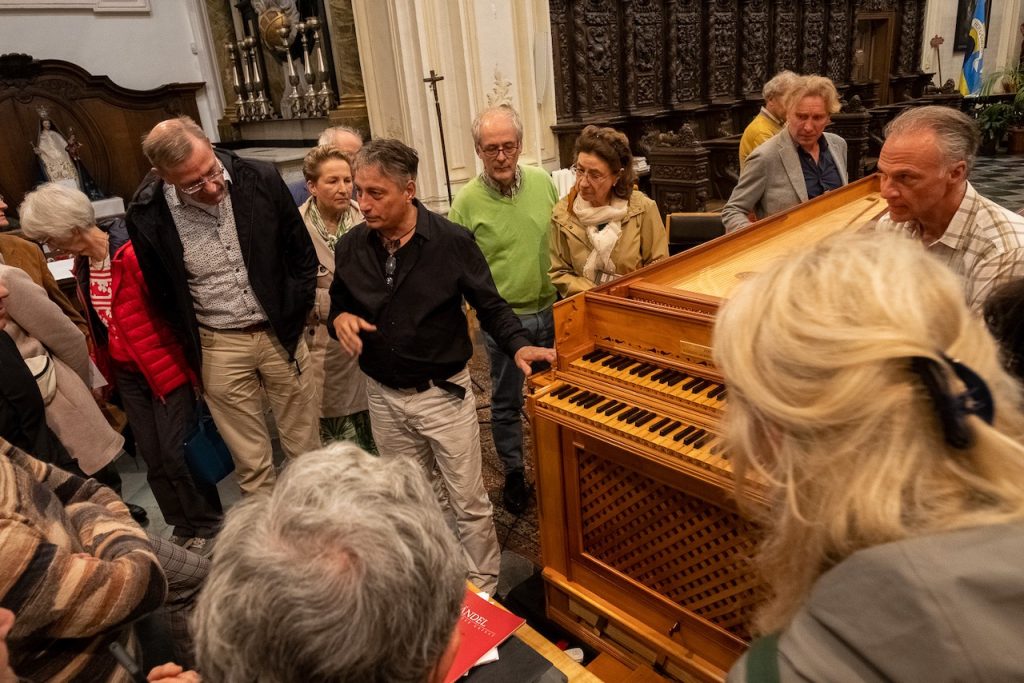
[[[479,172],[471,124],[490,103],[508,101],[522,115],[522,163],[557,166],[547,0],[356,1],[352,8],[371,128],[420,153],[424,204],[447,210],[434,100],[423,82],[431,69],[444,77],[437,88],[453,195]]]

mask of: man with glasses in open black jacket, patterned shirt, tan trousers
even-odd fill
[[[319,447],[303,324],[316,256],[269,164],[214,150],[188,117],[142,141],[153,170],[128,207],[128,232],[159,310],[201,373],[206,403],[244,495],[273,485],[263,397],[289,458]]]

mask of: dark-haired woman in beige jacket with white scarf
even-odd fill
[[[669,255],[657,205],[633,185],[626,135],[587,126],[575,143],[577,184],[551,215],[551,282],[563,297]]]

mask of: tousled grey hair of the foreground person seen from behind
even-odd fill
[[[193,623],[204,681],[422,683],[465,593],[422,467],[350,443],[236,505]]]

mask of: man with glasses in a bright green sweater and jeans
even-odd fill
[[[558,193],[547,171],[519,166],[522,122],[507,104],[480,112],[473,141],[483,172],[456,195],[449,220],[476,239],[490,266],[498,292],[508,301],[535,346],[551,346],[555,288],[548,279],[548,233]],[[505,468],[505,508],[520,514],[530,486],[522,466],[522,382],[515,361],[486,336],[490,357],[490,432]]]

